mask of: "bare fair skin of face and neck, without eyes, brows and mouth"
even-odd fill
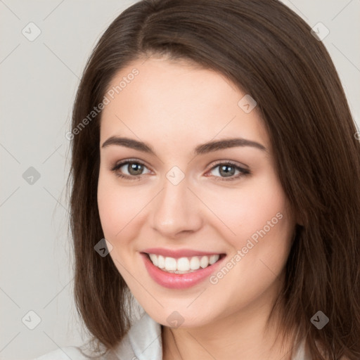
[[[134,68],[139,75],[103,110],[100,148],[110,136],[126,136],[148,143],[156,156],[101,148],[98,210],[115,266],[143,309],[164,326],[163,359],[290,359],[291,344],[280,349],[274,325],[265,322],[283,283],[296,221],[257,108],[245,113],[238,106],[245,93],[223,75],[154,56],[123,68],[109,89]],[[238,146],[192,153],[200,143],[233,137],[257,141],[266,151]],[[128,165],[117,172],[140,180],[111,171],[129,158],[145,163],[141,175]],[[251,174],[226,181],[214,167],[219,160]],[[176,186],[166,177],[174,166],[185,176]],[[188,248],[226,253],[225,264],[278,212],[282,219],[216,284],[207,279],[188,289],[164,288],[139,255],[146,248]],[[167,322],[173,311],[184,318],[178,328]]]

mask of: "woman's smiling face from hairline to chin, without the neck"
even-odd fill
[[[136,300],[166,326],[267,309],[295,221],[253,100],[217,72],[160,58],[134,61],[109,90],[98,209]]]

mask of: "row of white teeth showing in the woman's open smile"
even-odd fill
[[[226,254],[214,254],[214,255],[198,255],[192,257],[164,257],[157,254],[148,254],[144,252],[150,262],[158,269],[167,273],[173,274],[189,274],[201,269],[205,269],[212,264],[215,264],[220,259],[226,256]]]

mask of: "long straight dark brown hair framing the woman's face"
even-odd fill
[[[152,54],[216,70],[255,98],[302,223],[273,309],[281,333],[298,330],[314,359],[359,360],[360,143],[328,51],[276,0],[139,1],[91,53],[72,113],[68,186],[75,302],[93,339],[108,349],[122,340],[131,294],[111,257],[94,250],[104,237],[96,198],[101,112],[89,114],[119,70]],[[321,330],[311,323],[317,311],[329,319]]]

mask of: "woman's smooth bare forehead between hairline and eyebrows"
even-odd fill
[[[242,107],[249,95],[219,72],[178,60],[139,59],[117,72],[109,91],[101,141],[127,135],[176,144],[239,136],[269,148],[256,106],[250,113]]]

